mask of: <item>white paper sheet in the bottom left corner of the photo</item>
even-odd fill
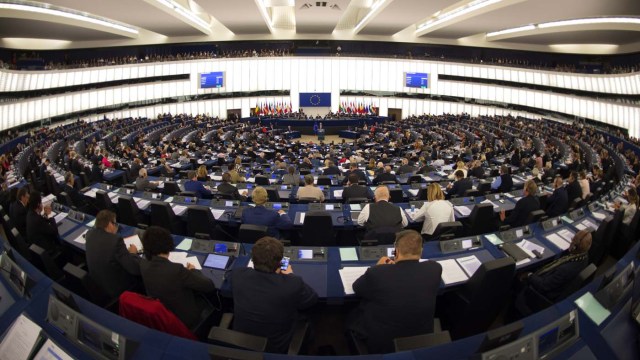
[[[27,360],[42,328],[24,315],[13,322],[0,344],[2,360]]]

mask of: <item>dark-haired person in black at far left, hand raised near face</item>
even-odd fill
[[[53,217],[49,219],[51,205],[43,206],[42,195],[33,191],[29,195],[27,209],[27,242],[50,253],[56,252],[59,248],[58,226]]]

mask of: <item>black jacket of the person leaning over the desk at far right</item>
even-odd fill
[[[531,275],[529,284],[549,300],[555,300],[562,293],[563,288],[588,265],[588,257],[579,261],[568,261],[545,273]]]

